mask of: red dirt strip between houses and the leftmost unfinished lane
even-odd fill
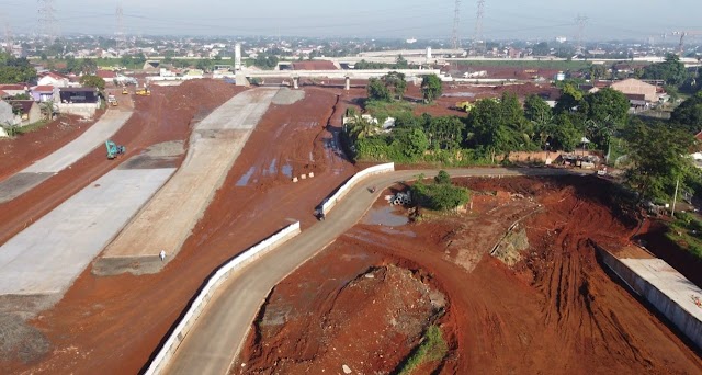
[[[93,118],[63,115],[34,132],[0,138],[0,181],[78,138],[103,113],[104,110],[99,111]]]

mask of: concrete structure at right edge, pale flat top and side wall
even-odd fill
[[[597,248],[602,261],[634,293],[650,303],[688,339],[702,349],[702,308],[691,297],[702,291],[661,259],[619,259]]]

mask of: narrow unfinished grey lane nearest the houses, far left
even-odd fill
[[[94,125],[78,138],[0,182],[0,203],[12,201],[26,193],[80,160],[97,147],[102,146],[106,139],[117,133],[129,116],[132,116],[132,111],[106,111]]]

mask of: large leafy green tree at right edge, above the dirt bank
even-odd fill
[[[694,138],[663,123],[632,121],[624,132],[632,166],[625,172],[626,183],[644,200],[668,200],[676,181],[684,189],[684,177],[694,168],[688,157]]]

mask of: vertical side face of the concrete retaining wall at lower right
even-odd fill
[[[702,349],[702,321],[658,287],[645,280],[636,271],[626,265],[623,260],[615,258],[607,250],[598,248],[602,261],[607,264],[634,293],[646,298],[660,314],[670,320],[688,339]],[[663,262],[663,260],[654,260]],[[690,285],[692,285],[690,283]]]

